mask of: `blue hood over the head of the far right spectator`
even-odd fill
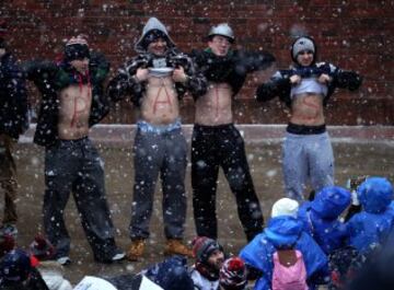
[[[393,186],[384,177],[368,177],[357,188],[362,208],[370,213],[384,212],[393,199]]]

